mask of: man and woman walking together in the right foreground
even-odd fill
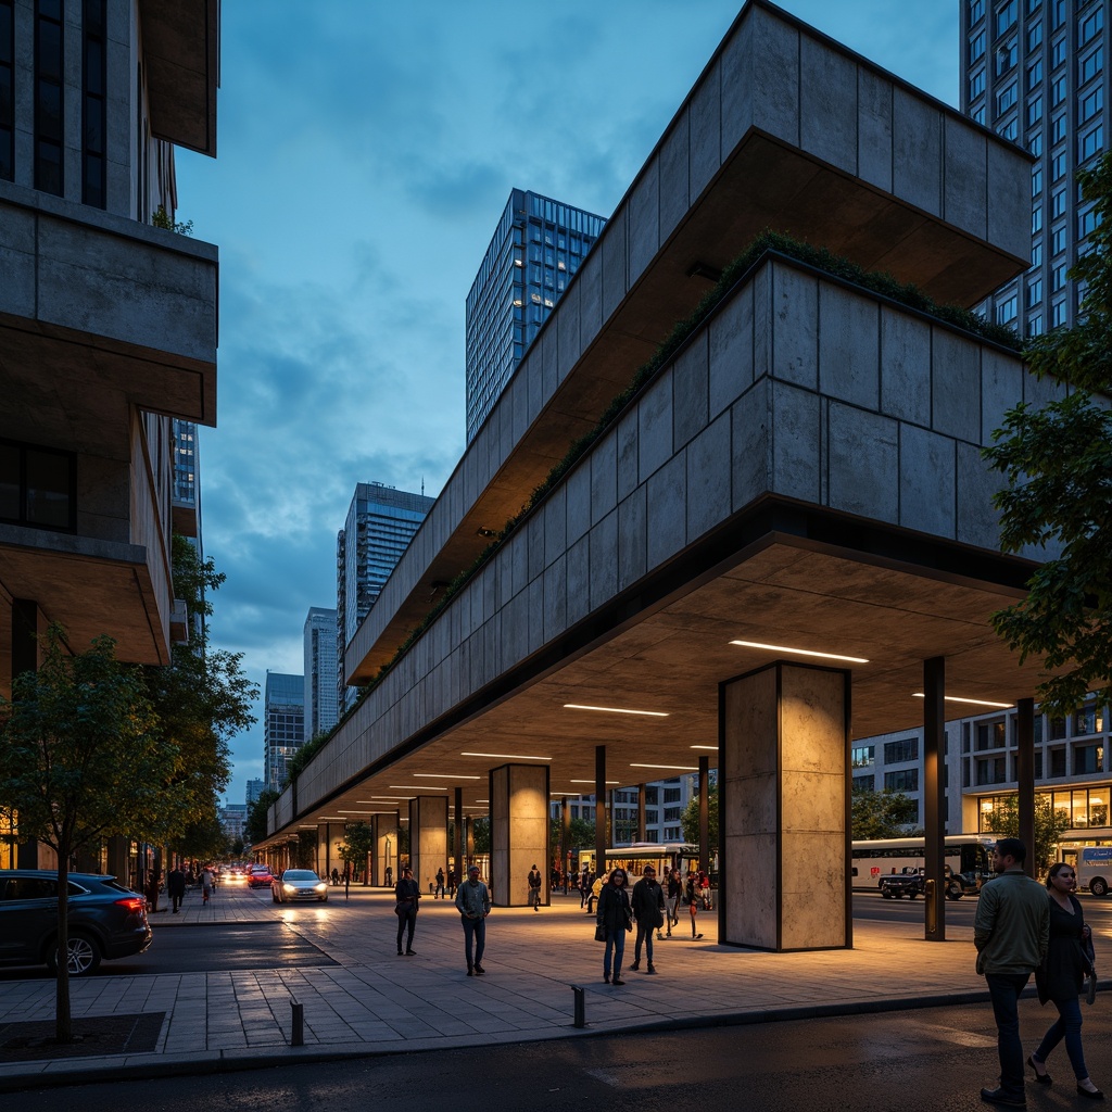
[[[1019,1000],[1034,973],[1040,1002],[1050,1001],[1058,1011],[1058,1020],[1026,1059],[1035,1081],[1040,1085],[1052,1083],[1046,1060],[1064,1040],[1078,1095],[1104,1100],[1089,1076],[1081,1046],[1081,993],[1088,979],[1086,995],[1092,1003],[1096,970],[1092,931],[1074,895],[1076,872],[1059,862],[1051,866],[1043,887],[1026,875],[1025,861],[1023,842],[1001,838],[992,856],[999,875],[982,888],[977,901],[973,926],[976,969],[984,974],[992,999],[1000,1055],[1000,1085],[982,1089],[981,1099],[1004,1108],[1026,1106]]]

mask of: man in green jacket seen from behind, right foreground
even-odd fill
[[[982,1089],[981,1100],[1005,1108],[1026,1108],[1019,1000],[1050,942],[1050,901],[1043,886],[1023,872],[1026,856],[1017,837],[996,842],[992,870],[999,875],[981,890],[973,922],[976,971],[989,986],[1000,1055],[1000,1085]]]

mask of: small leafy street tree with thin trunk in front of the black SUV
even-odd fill
[[[176,820],[169,785],[180,754],[165,737],[138,668],[101,636],[72,653],[52,625],[42,664],[0,697],[0,806],[19,816],[21,840],[58,854],[56,1037],[72,1041],[69,1000],[69,871],[75,854],[112,835],[153,840]]]

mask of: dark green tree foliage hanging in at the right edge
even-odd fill
[[[1083,290],[1079,322],[1024,349],[1032,373],[1063,396],[1010,409],[983,453],[1006,480],[994,498],[1001,547],[1061,545],[1027,582],[1026,597],[992,616],[1021,663],[1042,658],[1036,696],[1054,715],[1076,709],[1090,691],[1112,701],[1112,411],[1092,399],[1112,394],[1112,152],[1078,180],[1095,221],[1068,275]]]

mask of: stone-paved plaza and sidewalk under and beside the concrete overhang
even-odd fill
[[[467,977],[449,901],[421,900],[416,956],[399,957],[394,900],[381,888],[354,887],[348,901],[342,888],[330,888],[327,904],[297,906],[274,905],[264,890],[225,885],[207,906],[190,893],[180,914],[152,916],[153,951],[163,931],[255,922],[264,924],[260,949],[270,930],[289,930],[338,964],[73,981],[75,1019],[166,1012],[157,1050],[0,1064],[0,1091],[987,999],[973,969],[972,931],[950,925],[947,942],[927,943],[921,914],[893,924],[857,921],[852,951],[803,954],[693,942],[682,916],[677,933],[655,944],[658,975],[626,972],[626,984],[613,987],[602,981],[594,917],[579,910],[577,895],[553,901],[539,913],[496,907],[487,921],[487,973]],[[699,925],[713,929],[713,916],[702,915]],[[572,1025],[572,985],[585,989],[585,1031]],[[304,1009],[304,1046],[289,1044],[294,1001]],[[53,1010],[52,980],[0,983],[0,1023],[52,1020]]]

